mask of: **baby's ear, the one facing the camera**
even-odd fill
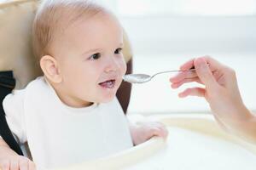
[[[56,59],[50,55],[44,55],[40,59],[40,67],[44,76],[51,82],[60,83],[62,81],[60,70]]]

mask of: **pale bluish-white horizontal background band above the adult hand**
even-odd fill
[[[159,16],[121,21],[138,54],[256,51],[256,16]]]

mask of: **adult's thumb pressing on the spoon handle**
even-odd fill
[[[209,65],[207,65],[207,61],[205,59],[195,59],[194,65],[197,76],[200,78],[201,82],[206,85],[207,88],[214,88],[218,84],[213,77],[212,71],[210,70]]]

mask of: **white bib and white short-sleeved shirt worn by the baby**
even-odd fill
[[[28,143],[38,167],[62,167],[132,147],[119,101],[84,108],[64,105],[38,77],[3,100],[12,133]]]

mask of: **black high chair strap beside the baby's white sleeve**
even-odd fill
[[[13,71],[0,71],[0,101],[2,103],[2,105],[0,105],[0,134],[12,150],[15,150],[17,154],[23,156],[20,145],[17,143],[9,129],[3,111],[3,99],[7,94],[10,94],[14,88],[15,78],[13,76]]]

